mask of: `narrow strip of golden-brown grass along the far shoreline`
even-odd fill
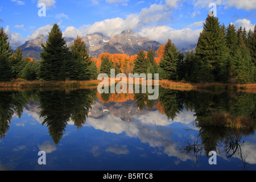
[[[109,80],[110,81],[110,80]],[[0,89],[43,89],[43,88],[97,88],[101,81],[26,81],[14,80],[9,82],[0,82]],[[115,82],[119,82],[116,80]],[[142,84],[141,80],[139,84]],[[177,90],[210,90],[213,92],[253,92],[256,93],[256,84],[222,84],[222,83],[205,83],[205,84],[192,84],[187,82],[176,82],[171,80],[159,80],[159,86],[166,89]]]

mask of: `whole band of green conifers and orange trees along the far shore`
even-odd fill
[[[11,80],[97,80],[98,74],[115,69],[115,74],[159,73],[160,79],[181,82],[256,82],[256,26],[254,30],[225,26],[218,18],[207,16],[195,52],[181,53],[171,39],[157,51],[137,55],[102,53],[90,57],[81,37],[69,48],[57,24],[42,44],[41,60],[23,58],[18,47],[12,51],[8,36],[0,29],[0,81]]]

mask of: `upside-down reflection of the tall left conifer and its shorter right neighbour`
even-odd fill
[[[40,117],[42,125],[47,125],[49,135],[55,144],[60,142],[67,122],[72,119],[77,128],[81,128],[88,117],[90,106],[96,97],[96,90],[40,91]]]

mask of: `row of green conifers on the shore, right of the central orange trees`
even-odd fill
[[[256,82],[256,26],[254,30],[234,27],[207,17],[200,33],[196,51],[185,55],[169,39],[163,56],[155,64],[143,51],[138,53],[133,72],[159,73],[168,80],[188,82],[224,82],[251,84]],[[147,53],[150,54],[149,52]]]

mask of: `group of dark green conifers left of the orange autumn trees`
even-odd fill
[[[91,60],[88,49],[80,36],[74,41],[71,50],[67,47],[63,34],[54,24],[48,35],[48,41],[42,44],[42,60],[26,57],[18,47],[11,50],[8,36],[3,28],[0,30],[0,81],[17,78],[25,80],[90,80],[97,79],[98,69]]]

